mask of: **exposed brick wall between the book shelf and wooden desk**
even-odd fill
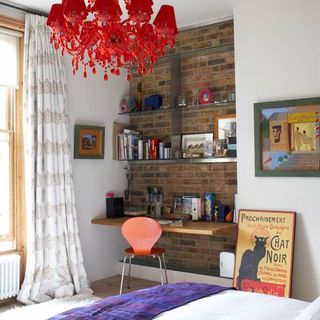
[[[217,200],[232,205],[237,193],[236,163],[212,164],[150,164],[134,165],[130,202],[143,206],[147,199],[147,186],[164,190],[166,206],[173,206],[174,198],[185,193],[213,192]]]

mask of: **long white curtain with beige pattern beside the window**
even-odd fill
[[[92,293],[78,234],[60,53],[46,19],[26,16],[24,131],[27,266],[18,300],[30,304]]]

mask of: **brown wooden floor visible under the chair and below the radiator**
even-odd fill
[[[124,280],[125,281],[123,284],[123,293],[128,293],[134,290],[156,286],[159,284],[158,282],[131,278],[130,289],[127,289],[127,277],[125,277]],[[114,276],[111,278],[94,281],[91,283],[91,289],[94,291],[93,294],[100,298],[117,295],[119,294],[119,290],[120,290],[120,281],[121,281],[121,276]],[[11,299],[7,303],[0,304],[0,313],[8,309],[11,309],[12,307],[17,307],[17,306],[21,306],[21,304],[16,300]],[[1,319],[1,316],[0,316],[0,319]]]

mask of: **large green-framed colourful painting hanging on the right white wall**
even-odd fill
[[[255,175],[320,176],[320,97],[254,104]]]

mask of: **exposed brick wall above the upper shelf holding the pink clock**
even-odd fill
[[[210,88],[216,100],[227,99],[228,93],[235,92],[233,21],[182,31],[171,53],[185,53],[181,56],[181,95],[186,95],[188,104],[194,102],[199,91]],[[231,45],[231,49],[228,45]],[[226,45],[222,52],[210,53],[212,47]],[[142,83],[142,97],[160,94],[163,105],[170,104],[170,63],[162,58],[153,72],[143,77],[133,74],[130,95],[137,96],[138,82]]]

